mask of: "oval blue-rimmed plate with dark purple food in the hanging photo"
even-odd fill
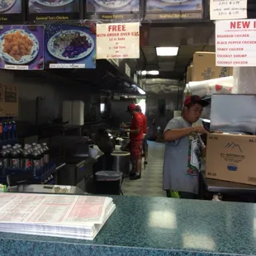
[[[88,56],[94,49],[94,41],[83,31],[59,31],[50,38],[47,49],[57,59],[72,61]]]

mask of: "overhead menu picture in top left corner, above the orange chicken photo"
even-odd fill
[[[23,21],[22,10],[24,4],[21,0],[0,1],[0,24],[7,22]]]

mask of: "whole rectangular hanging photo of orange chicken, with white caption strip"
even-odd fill
[[[0,26],[0,69],[44,69],[44,26]]]

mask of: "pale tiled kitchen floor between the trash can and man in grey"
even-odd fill
[[[163,191],[164,144],[149,142],[148,165],[139,180],[126,178],[122,184],[124,196],[165,197]]]

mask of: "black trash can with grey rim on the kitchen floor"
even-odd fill
[[[121,194],[122,173],[116,171],[99,171],[95,173],[96,193],[107,195]]]

